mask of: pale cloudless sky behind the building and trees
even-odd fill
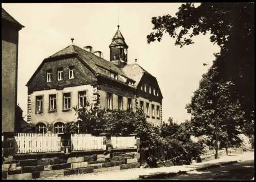
[[[119,30],[129,46],[128,64],[135,63],[154,75],[163,94],[163,120],[177,123],[190,119],[185,109],[198,88],[203,73],[220,48],[209,34],[196,36],[195,44],[180,48],[168,34],[162,41],[147,44],[153,16],[175,16],[181,3],[83,3],[14,4],[2,7],[25,28],[19,31],[17,103],[27,114],[26,84],[42,60],[71,45],[92,46],[109,60],[112,38]],[[203,63],[208,64],[203,66]]]

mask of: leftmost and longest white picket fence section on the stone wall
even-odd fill
[[[53,133],[17,133],[16,153],[59,152],[61,138]]]

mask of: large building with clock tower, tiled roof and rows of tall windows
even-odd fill
[[[72,45],[45,58],[27,83],[28,122],[61,133],[76,122],[73,107],[136,111],[144,108],[148,122],[162,121],[162,94],[157,79],[138,64],[127,64],[128,46],[119,26],[110,44],[110,61],[93,47]],[[90,106],[87,106],[87,102]]]

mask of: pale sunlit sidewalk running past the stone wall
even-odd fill
[[[223,156],[219,159],[206,161],[204,163],[196,163],[192,165],[171,166],[171,167],[161,167],[161,168],[146,168],[146,169],[134,168],[134,169],[121,170],[121,171],[116,170],[116,171],[106,171],[106,172],[100,172],[100,173],[88,173],[88,174],[79,174],[79,175],[71,175],[71,176],[62,176],[60,178],[54,178],[54,179],[131,180],[131,179],[139,179],[139,177],[143,178],[143,176],[148,176],[148,175],[200,170],[201,168],[224,165],[226,163],[236,163],[239,160],[254,160],[254,152],[244,152],[243,154],[233,154],[233,155]]]

